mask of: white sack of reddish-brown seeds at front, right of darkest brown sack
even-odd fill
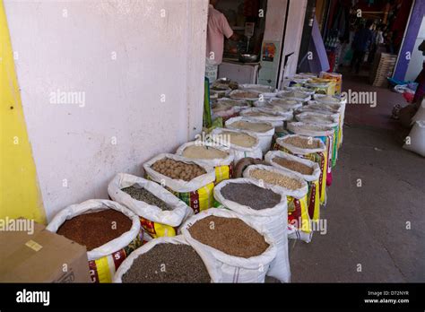
[[[212,208],[181,228],[208,268],[212,282],[265,282],[276,256],[267,230],[239,213]]]

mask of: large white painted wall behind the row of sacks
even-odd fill
[[[201,131],[207,3],[4,1],[49,220]]]

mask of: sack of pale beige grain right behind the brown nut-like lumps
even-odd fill
[[[181,145],[177,155],[191,160],[203,162],[215,169],[215,184],[232,177],[233,160],[235,156],[229,148],[212,146],[211,143],[203,141],[189,142]]]

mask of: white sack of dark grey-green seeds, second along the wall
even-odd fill
[[[194,214],[164,187],[126,173],[118,173],[110,181],[108,195],[137,214],[143,230],[152,238],[176,236],[182,222]]]

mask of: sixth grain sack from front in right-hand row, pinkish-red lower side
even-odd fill
[[[334,160],[334,142],[335,133],[334,128],[331,126],[319,125],[319,124],[305,124],[305,123],[289,123],[288,130],[291,134],[299,134],[308,137],[314,137],[322,140],[325,143],[327,152],[327,168],[326,172],[326,186],[332,185],[332,168]]]

